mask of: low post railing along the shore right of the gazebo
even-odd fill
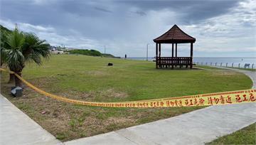
[[[255,69],[256,66],[254,63],[205,63],[205,62],[193,62],[196,65],[208,65],[208,66],[220,66],[227,68],[247,68]]]

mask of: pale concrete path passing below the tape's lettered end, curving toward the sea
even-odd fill
[[[255,72],[235,71],[248,75],[253,80],[253,88],[256,88]],[[204,144],[254,122],[256,122],[256,103],[211,106],[177,117],[76,139],[64,144]]]

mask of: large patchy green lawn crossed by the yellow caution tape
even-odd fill
[[[107,66],[113,63],[114,66]],[[249,77],[220,69],[155,69],[152,62],[52,55],[43,65],[28,64],[23,77],[46,92],[77,100],[117,102],[243,90]],[[26,87],[23,97],[9,95],[9,75],[1,75],[1,93],[57,139],[68,141],[174,117],[202,107],[158,109],[102,108],[58,102]]]

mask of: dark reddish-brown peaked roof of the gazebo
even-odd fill
[[[155,43],[194,43],[196,38],[188,36],[175,24],[169,31],[153,40]]]

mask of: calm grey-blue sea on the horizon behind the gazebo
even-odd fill
[[[146,60],[146,58],[140,57],[140,58],[127,58],[129,60]],[[154,58],[148,58],[149,61],[154,60]],[[222,66],[226,66],[228,63],[228,67],[231,67],[233,64],[233,67],[238,67],[240,64],[240,68],[243,68],[245,63],[249,63],[250,64],[250,68],[252,66],[252,64],[254,64],[254,68],[255,68],[255,64],[256,64],[256,58],[193,58],[193,62],[198,64],[198,65],[210,65],[210,63],[212,63],[212,65],[218,65],[220,66],[220,64]]]

